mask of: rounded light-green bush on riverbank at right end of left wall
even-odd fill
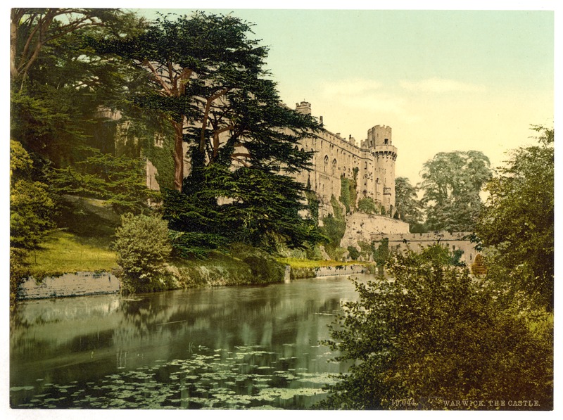
[[[113,246],[125,291],[162,290],[169,278],[165,262],[172,250],[167,223],[158,217],[127,213],[122,215],[115,237]]]

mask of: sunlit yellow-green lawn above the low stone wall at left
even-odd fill
[[[108,245],[107,239],[82,238],[58,231],[42,244],[42,250],[31,253],[28,262],[32,274],[39,276],[108,271],[117,267],[115,252]]]

